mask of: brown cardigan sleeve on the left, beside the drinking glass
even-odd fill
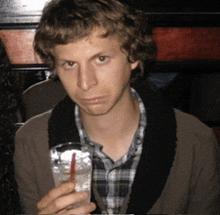
[[[26,214],[37,214],[37,202],[54,188],[47,125],[50,112],[28,120],[15,136],[15,179]]]

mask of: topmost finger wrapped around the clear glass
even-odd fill
[[[52,201],[54,201],[56,198],[61,197],[65,194],[68,194],[70,192],[73,192],[75,188],[74,183],[72,182],[66,182],[62,183],[59,186],[55,187],[51,191],[48,192],[47,195],[45,195],[38,203],[37,208],[38,210],[42,210],[43,208],[47,207]]]

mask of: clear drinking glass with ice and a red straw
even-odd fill
[[[71,164],[73,153],[75,153],[75,171],[72,177]],[[75,142],[55,146],[50,150],[50,163],[55,186],[74,180],[76,192],[86,191],[91,196],[92,156],[89,147]],[[79,207],[89,201],[90,197],[85,202],[75,204],[74,207]]]

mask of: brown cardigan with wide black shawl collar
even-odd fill
[[[148,88],[141,89],[136,90],[147,107],[146,147],[121,213],[218,214],[220,154],[212,130],[195,117],[174,111]],[[64,116],[74,112],[71,105],[67,97],[52,111],[30,119],[16,134],[15,175],[26,213],[37,213],[36,203],[54,187],[49,148],[79,138],[75,128],[68,132],[63,128],[74,124],[73,118],[67,122]],[[92,196],[98,211],[105,211],[94,187]]]

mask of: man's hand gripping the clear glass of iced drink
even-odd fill
[[[85,201],[89,195],[87,192],[74,192],[73,182],[62,183],[48,192],[38,203],[38,214],[88,214],[95,210],[94,203],[87,203],[79,208],[71,205]]]

